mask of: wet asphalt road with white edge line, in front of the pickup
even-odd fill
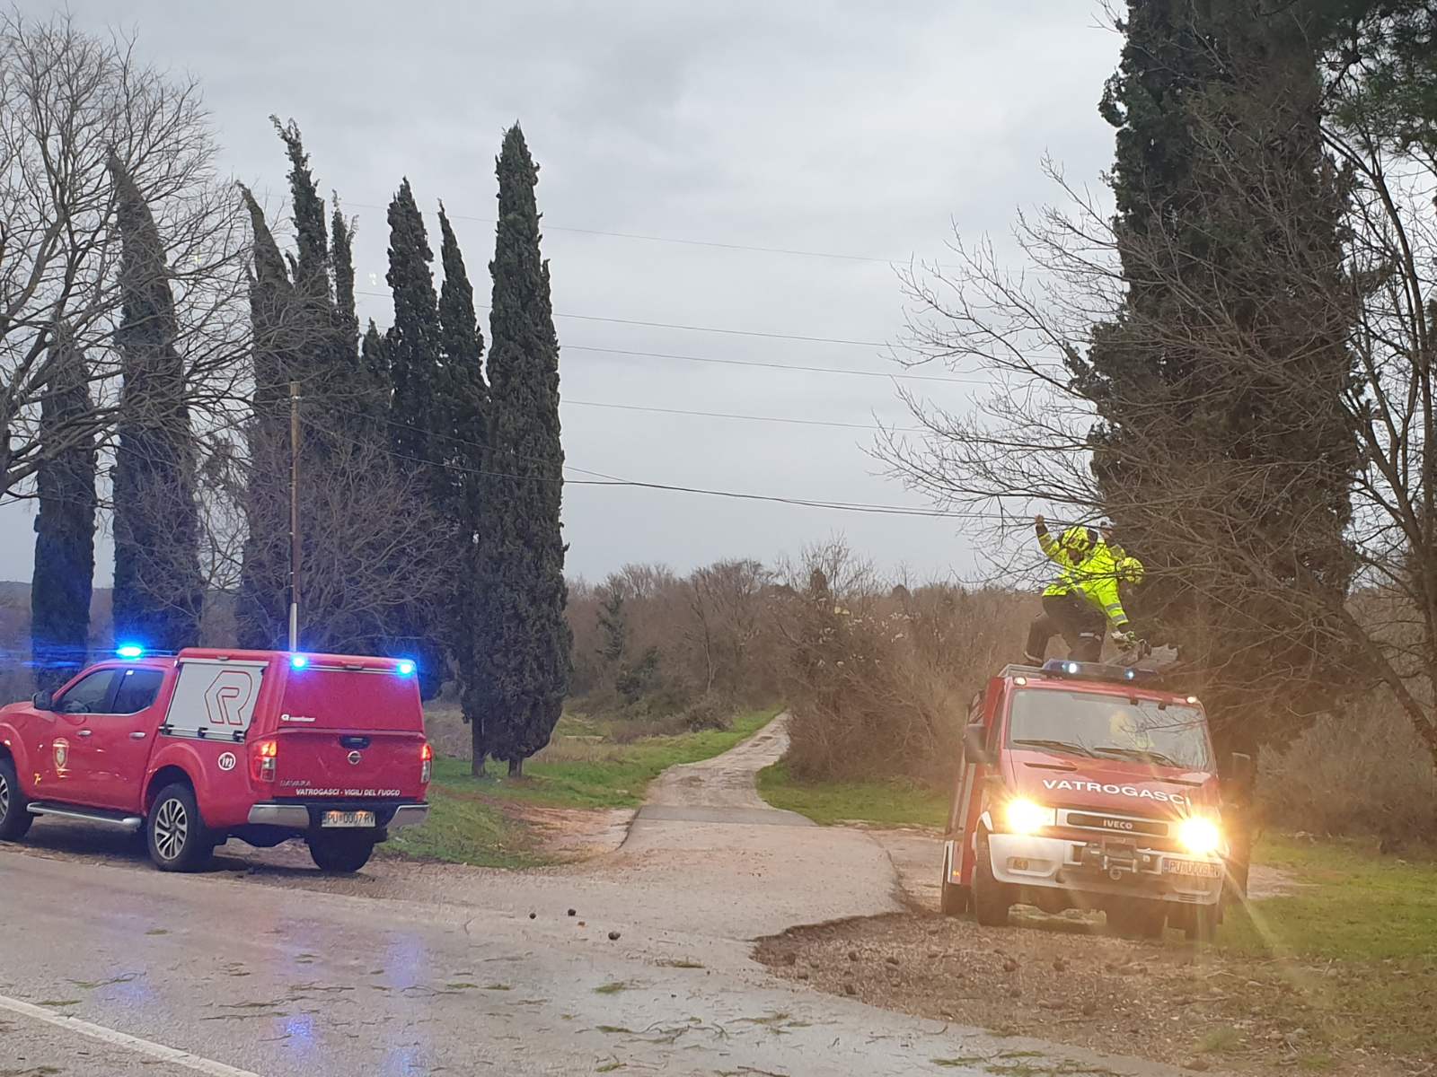
[[[543,872],[376,862],[328,880],[282,850],[226,849],[217,870],[171,876],[40,821],[0,847],[0,1073],[987,1074],[971,1060],[1013,1050],[1066,1073],[1163,1073],[810,992],[750,961],[759,935],[898,900],[877,841],[753,793],[783,747],[770,727],[674,768],[616,853]]]

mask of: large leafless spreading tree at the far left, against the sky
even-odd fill
[[[233,421],[246,376],[246,236],[214,174],[198,86],[137,60],[132,42],[80,33],[69,16],[0,13],[0,494],[33,495],[40,461],[111,442],[119,406],[115,330],[124,293],[109,162],[155,218],[154,273],[175,296],[184,404],[200,432]],[[129,280],[131,290],[145,281]],[[89,356],[92,406],[39,438],[50,339],[65,322]]]

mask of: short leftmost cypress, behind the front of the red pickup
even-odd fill
[[[68,327],[50,343],[36,474],[34,576],[30,583],[30,653],[40,689],[55,689],[85,661],[95,582],[95,435],[76,432],[91,412],[89,369]]]

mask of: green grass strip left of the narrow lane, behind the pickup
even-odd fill
[[[772,721],[776,711],[741,714],[727,729],[608,740],[602,719],[565,715],[547,748],[510,780],[490,763],[483,778],[467,760],[438,758],[430,785],[430,819],[398,831],[387,849],[402,856],[480,867],[532,867],[546,863],[537,834],[506,804],[559,808],[622,808],[644,803],[644,790],[664,770],[718,755]]]

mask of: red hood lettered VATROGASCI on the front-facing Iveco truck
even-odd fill
[[[1019,748],[1004,755],[1009,787],[1040,804],[1155,817],[1216,813],[1219,806],[1217,777],[1207,771]]]

